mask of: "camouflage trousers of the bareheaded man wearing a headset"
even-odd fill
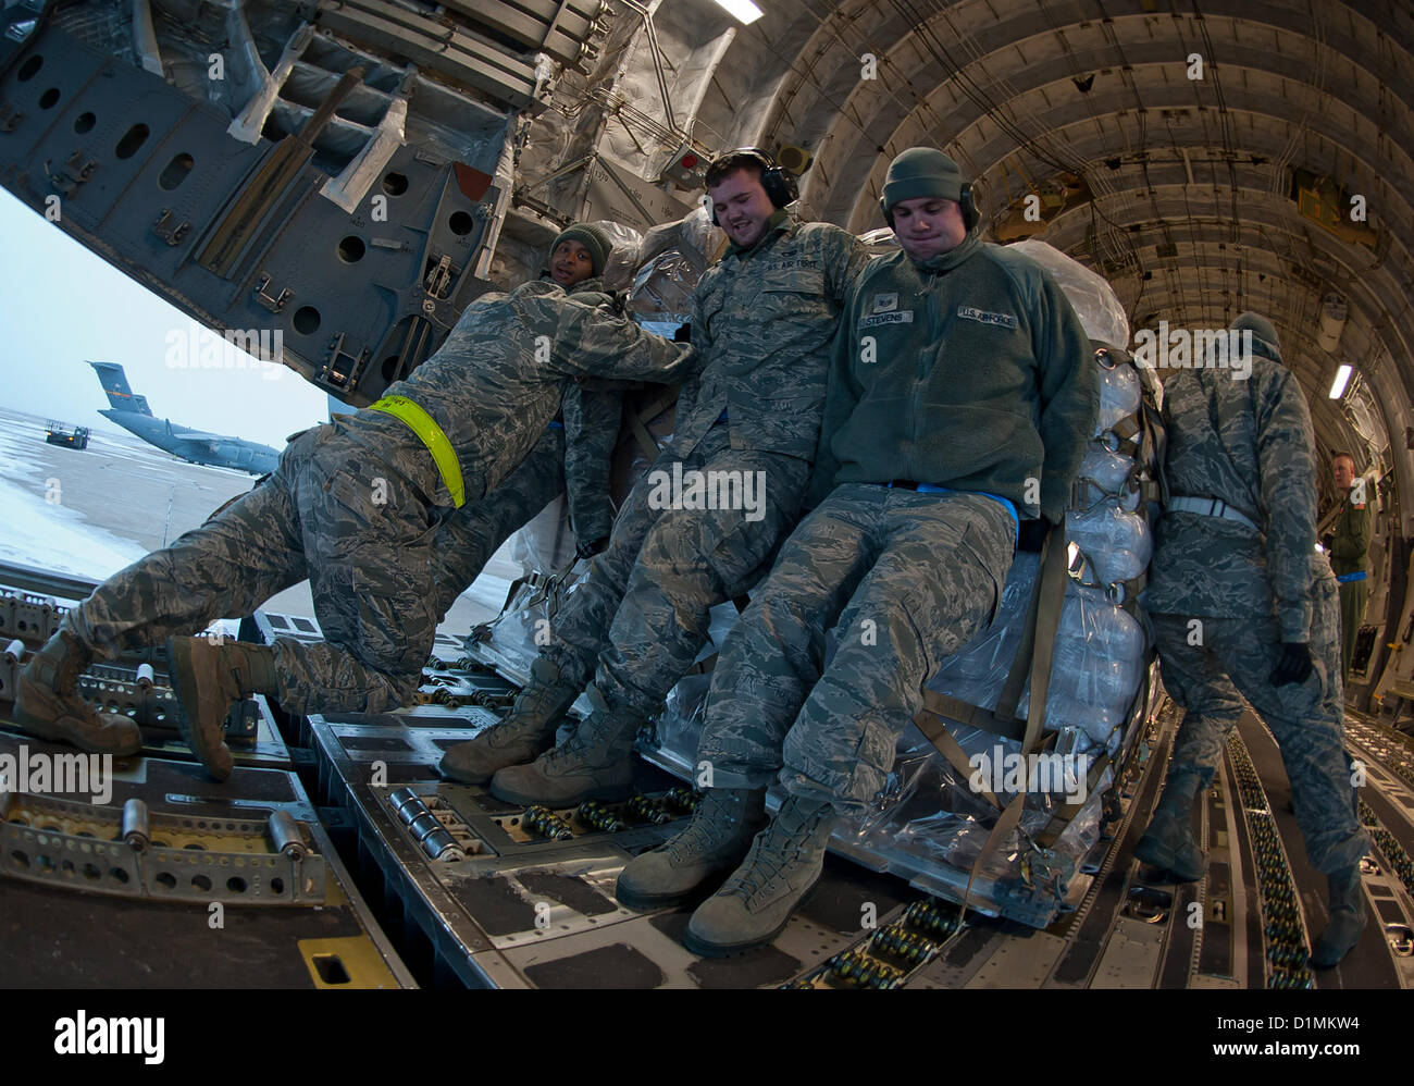
[[[659,472],[672,478],[674,464],[684,479],[689,471],[761,472],[759,509],[653,508]],[[639,477],[608,549],[551,619],[554,642],[543,655],[575,686],[592,676],[609,704],[656,713],[707,643],[708,611],[749,588],[790,530],[809,475],[797,457],[731,448],[725,426],[682,460],[669,447]]]

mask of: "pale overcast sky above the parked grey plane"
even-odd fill
[[[328,396],[284,366],[168,368],[168,335],[199,328],[0,189],[0,404],[116,430],[98,414],[93,361],[120,363],[153,414],[198,430],[284,448],[328,419]]]

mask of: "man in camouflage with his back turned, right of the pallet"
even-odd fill
[[[1332,966],[1365,926],[1343,742],[1336,584],[1316,551],[1311,416],[1281,365],[1275,328],[1243,314],[1251,370],[1206,366],[1164,379],[1169,503],[1145,607],[1164,687],[1186,713],[1158,812],[1135,854],[1181,880],[1206,861],[1192,805],[1222,759],[1246,697],[1281,747],[1311,864],[1331,882],[1331,923],[1312,960]]]

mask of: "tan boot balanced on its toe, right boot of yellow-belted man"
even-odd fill
[[[216,781],[235,768],[226,747],[230,703],[249,694],[274,694],[274,650],[212,638],[168,638],[167,666],[181,703],[181,734]]]

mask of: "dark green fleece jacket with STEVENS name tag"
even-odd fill
[[[1059,523],[1097,410],[1090,341],[1035,262],[977,235],[926,264],[899,250],[847,298],[812,505],[841,484],[912,479]]]

